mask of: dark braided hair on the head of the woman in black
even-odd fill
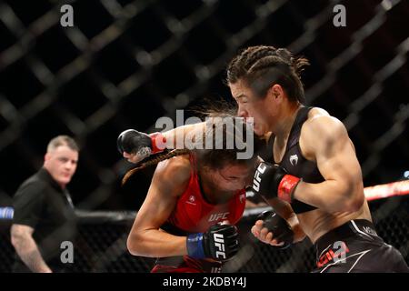
[[[236,55],[227,67],[226,83],[243,80],[254,93],[264,97],[273,84],[282,85],[290,101],[304,102],[301,72],[309,62],[285,48],[250,46]]]

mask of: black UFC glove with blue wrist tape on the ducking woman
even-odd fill
[[[186,246],[188,256],[228,260],[239,248],[237,227],[221,224],[211,226],[205,233],[187,236]]]

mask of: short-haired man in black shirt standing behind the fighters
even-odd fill
[[[67,135],[56,136],[47,146],[44,166],[15,193],[13,272],[65,272],[66,264],[72,263],[62,259],[65,246],[73,246],[76,228],[74,206],[65,186],[75,173],[77,161],[75,141]]]

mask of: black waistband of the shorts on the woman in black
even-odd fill
[[[366,219],[354,219],[344,223],[342,226],[335,227],[324,234],[324,236],[318,238],[314,246],[318,252],[321,252],[335,241],[344,241],[344,239],[351,236],[360,236],[370,240],[382,241],[382,238],[376,234],[372,222]]]

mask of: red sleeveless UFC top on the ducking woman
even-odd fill
[[[205,232],[210,226],[228,220],[235,225],[243,216],[245,189],[237,193],[226,203],[212,205],[205,201],[199,186],[195,155],[189,156],[192,166],[189,185],[179,197],[168,223],[189,233]]]

